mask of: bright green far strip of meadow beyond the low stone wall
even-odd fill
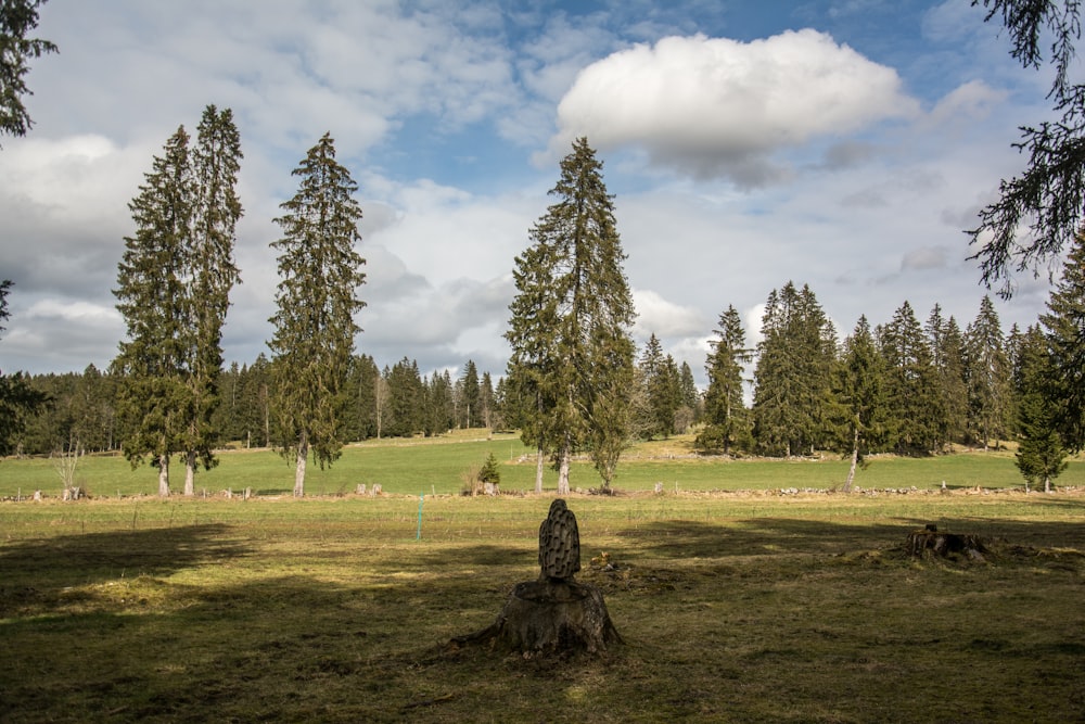
[[[628,450],[618,466],[615,487],[651,491],[655,483],[675,491],[738,491],[774,488],[834,488],[844,483],[848,461],[831,456],[819,460],[724,460],[699,458],[692,454],[691,437],[640,444]],[[464,474],[482,467],[493,454],[500,462],[501,490],[532,491],[535,486],[535,457],[515,435],[486,435],[484,430],[457,431],[435,440],[370,441],[344,448],[331,468],[309,466],[306,492],[312,495],[354,493],[359,484],[371,490],[380,484],[385,493],[456,494],[464,485]],[[219,465],[196,475],[202,496],[226,491],[255,495],[290,495],[294,468],[268,449],[232,450],[219,454]],[[59,497],[63,485],[55,460],[35,458],[0,461],[0,498],[29,497],[40,490]],[[184,471],[171,469],[171,484],[179,491]],[[588,490],[599,485],[599,477],[586,460],[572,465],[574,486]],[[94,497],[153,495],[157,493],[157,470],[150,466],[132,470],[120,456],[86,456],[75,470],[75,481]],[[971,453],[929,459],[875,458],[860,470],[855,484],[864,488],[917,487],[940,490],[968,487],[1023,487],[1009,452]],[[1057,481],[1060,485],[1085,486],[1085,460],[1077,458]],[[545,484],[557,485],[556,473],[547,469]]]

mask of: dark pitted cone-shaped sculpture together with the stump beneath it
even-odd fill
[[[573,580],[580,570],[580,536],[576,516],[561,498],[550,504],[539,526],[539,569],[537,581],[513,587],[497,621],[452,644],[486,643],[495,649],[552,655],[599,653],[622,643],[602,592]]]

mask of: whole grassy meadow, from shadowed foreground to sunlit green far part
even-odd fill
[[[396,449],[410,457],[393,473]],[[1080,461],[1059,481],[1076,490],[1025,495],[1006,456],[878,460],[859,478],[878,492],[845,496],[780,494],[839,484],[819,482],[838,461],[641,449],[624,495],[569,497],[577,577],[602,588],[625,643],[554,661],[449,645],[537,574],[549,495],[456,494],[488,449],[502,490],[531,487],[534,465],[495,440],[352,448],[341,463],[358,455],[356,474],[388,462],[359,481],[381,482],[379,497],[335,497],[347,477],[302,500],[117,498],[103,478],[90,500],[0,503],[0,721],[1085,720]],[[273,457],[243,463],[263,455],[225,455],[205,480],[232,466],[290,479]],[[36,462],[0,462],[0,491]],[[424,480],[437,495],[425,490],[419,536]],[[655,480],[666,493],[638,492]],[[928,522],[991,551],[906,557]],[[613,570],[590,562],[604,551]]]

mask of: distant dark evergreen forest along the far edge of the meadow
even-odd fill
[[[762,342],[749,346],[739,313],[728,307],[720,315],[705,360],[706,390],[652,334],[637,360],[630,440],[697,429],[697,447],[709,454],[848,454],[858,414],[861,454],[994,446],[1021,433],[1030,352],[1044,344],[1035,327],[1004,333],[986,296],[963,328],[940,305],[920,322],[905,302],[891,320],[871,327],[864,317],[841,340],[813,290],[791,282],[769,294],[760,331]],[[221,447],[271,444],[271,365],[260,355],[222,370],[212,417]],[[470,359],[454,378],[447,370],[424,374],[406,357],[382,369],[369,355],[353,355],[346,379],[339,418],[346,441],[512,430],[523,422],[523,401],[506,378],[495,383]],[[115,376],[91,365],[81,373],[30,376],[29,383],[51,403],[27,421],[17,453],[120,448],[128,431],[115,409]],[[868,398],[858,401],[863,386]]]

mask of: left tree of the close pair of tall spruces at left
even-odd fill
[[[152,456],[158,468],[158,495],[165,497],[169,458],[184,449],[186,409],[191,403],[186,384],[191,330],[184,284],[195,183],[183,126],[166,142],[163,155],[155,156],[144,178],[139,195],[128,205],[136,233],[125,237],[113,292],[128,339],[120,342],[112,371],[120,381],[125,457],[135,469]]]

